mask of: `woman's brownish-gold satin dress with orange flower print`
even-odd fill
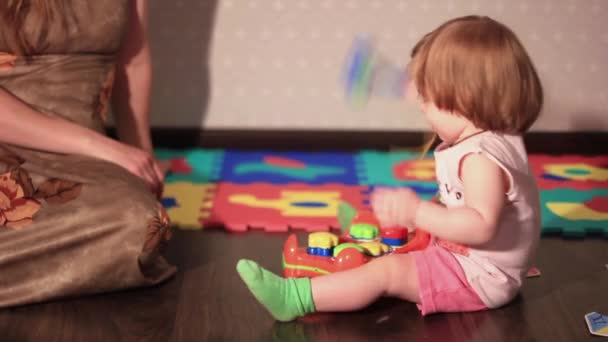
[[[69,2],[31,56],[0,35],[0,87],[103,132],[130,6]],[[170,236],[155,196],[120,166],[0,143],[0,307],[162,282],[175,273],[161,253]]]

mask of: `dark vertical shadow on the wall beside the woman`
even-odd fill
[[[210,95],[209,52],[217,0],[151,1],[154,127],[198,126]]]

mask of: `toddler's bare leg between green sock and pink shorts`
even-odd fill
[[[312,278],[311,286],[317,311],[353,311],[381,296],[420,302],[416,263],[410,254],[389,255],[352,270]]]

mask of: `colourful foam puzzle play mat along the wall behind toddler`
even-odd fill
[[[181,229],[328,231],[347,202],[369,209],[374,187],[437,191],[432,158],[413,152],[157,150],[170,171],[162,199]],[[544,234],[608,238],[608,156],[531,155]]]

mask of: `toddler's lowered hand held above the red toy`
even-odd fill
[[[408,188],[378,188],[372,194],[372,208],[383,227],[416,228],[420,197]]]

